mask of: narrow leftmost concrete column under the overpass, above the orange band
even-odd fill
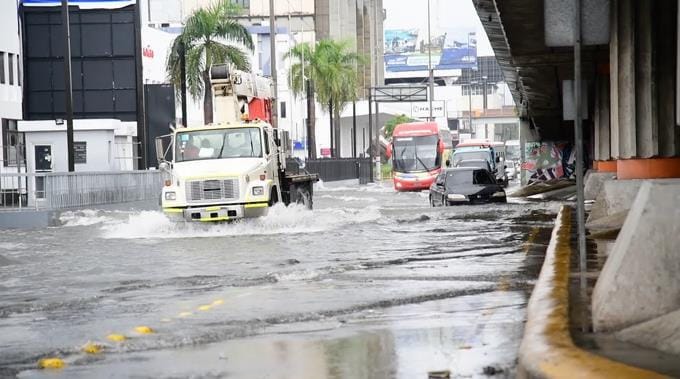
[[[612,158],[619,157],[619,31],[618,12],[619,0],[611,0],[611,12],[609,20],[609,93],[610,96],[610,155]]]

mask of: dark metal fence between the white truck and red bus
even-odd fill
[[[305,162],[305,169],[319,174],[324,182],[359,179],[359,183],[370,181],[370,158],[314,159]]]

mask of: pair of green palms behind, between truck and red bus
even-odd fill
[[[315,94],[322,109],[329,112],[331,117],[331,135],[335,135],[335,145],[332,149],[334,157],[340,156],[340,114],[344,107],[356,99],[356,87],[358,83],[357,64],[362,59],[356,52],[349,51],[349,43],[345,41],[320,40],[312,48],[309,44],[300,44],[291,49],[287,56],[297,58],[298,62],[290,69],[292,89],[295,94],[303,91],[304,79],[310,81],[313,88],[311,104],[313,108],[313,95]],[[305,78],[302,77],[302,65],[305,66]],[[310,94],[308,94],[308,108]],[[312,118],[310,113],[309,118]],[[308,133],[313,136],[314,128]],[[335,133],[333,133],[333,131]],[[309,136],[308,136],[309,143]],[[316,152],[316,147],[313,151]],[[310,156],[310,158],[313,158]]]

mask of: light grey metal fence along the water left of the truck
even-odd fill
[[[4,173],[0,209],[64,209],[157,199],[160,171]]]

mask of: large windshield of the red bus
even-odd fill
[[[431,171],[439,166],[439,136],[395,137],[393,165],[397,172]]]

